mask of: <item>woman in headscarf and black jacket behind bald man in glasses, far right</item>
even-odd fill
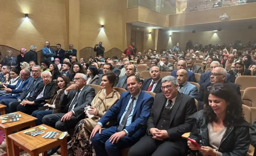
[[[243,60],[236,60],[235,63],[235,70],[229,70],[228,73],[231,75],[231,79],[235,82],[238,76],[248,75],[252,76],[251,70],[245,68],[245,63]]]

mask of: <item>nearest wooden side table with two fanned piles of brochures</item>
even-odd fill
[[[39,126],[36,126],[36,127],[39,127]],[[59,145],[61,145],[61,155],[62,156],[68,155],[67,137],[69,137],[69,135],[67,135],[65,138],[61,140],[41,138],[48,131],[58,131],[45,124],[42,124],[42,126],[47,128],[46,130],[42,130],[45,133],[42,133],[35,137],[23,133],[24,131],[27,131],[27,130],[19,131],[17,133],[14,133],[8,136],[8,138],[11,139],[13,156],[19,156],[19,147],[25,150],[26,152],[30,153],[31,156],[39,156],[40,153],[42,153],[43,156],[47,156],[47,150]],[[33,128],[36,128],[36,127],[33,127]]]

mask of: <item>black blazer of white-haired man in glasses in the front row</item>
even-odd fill
[[[49,100],[51,98],[51,95],[53,93],[53,90],[54,90],[56,84],[57,84],[56,81],[51,81],[47,86],[45,86],[44,83],[41,83],[38,86],[37,91],[33,94],[33,96],[31,98],[29,98],[28,101],[34,101],[34,103],[39,107],[43,106],[45,100]],[[44,89],[44,86],[45,86],[45,89]],[[37,96],[39,96],[39,94],[43,91],[43,89],[44,89],[43,97],[36,99]],[[41,104],[41,103],[43,103],[43,104]]]

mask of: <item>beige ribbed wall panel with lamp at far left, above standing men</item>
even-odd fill
[[[1,0],[0,10],[0,45],[40,50],[48,40],[68,49],[64,0]]]

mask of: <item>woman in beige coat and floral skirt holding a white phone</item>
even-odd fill
[[[94,149],[91,144],[91,131],[108,109],[110,109],[120,99],[120,93],[113,89],[116,81],[116,75],[113,71],[109,71],[102,77],[102,89],[94,97],[91,102],[91,110],[89,114],[93,114],[92,118],[81,120],[75,127],[74,134],[68,143],[68,155],[74,156],[92,156]],[[87,116],[87,115],[86,115]],[[111,126],[110,123],[108,123]],[[106,128],[106,127],[105,127]],[[58,153],[60,149],[58,150]]]

